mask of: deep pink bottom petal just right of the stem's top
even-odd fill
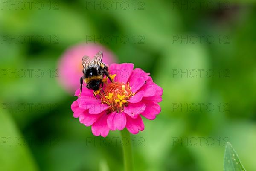
[[[140,115],[133,119],[126,115],[126,128],[130,133],[137,134],[139,131],[144,130],[144,123]]]

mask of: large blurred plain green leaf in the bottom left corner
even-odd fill
[[[38,171],[28,141],[24,143],[9,113],[0,113],[0,170]]]

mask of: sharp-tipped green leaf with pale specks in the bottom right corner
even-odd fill
[[[227,142],[225,150],[224,171],[246,171],[230,142]]]

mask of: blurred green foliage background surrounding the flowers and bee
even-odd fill
[[[255,170],[255,3],[124,2],[43,0],[30,8],[1,1],[0,171],[122,171],[122,146],[113,143],[119,132],[108,135],[110,145],[95,138],[73,118],[76,98],[48,77],[68,47],[84,42],[106,46],[163,87],[162,112],[132,136],[135,171],[221,171],[227,141]],[[23,35],[33,38],[23,42]],[[117,41],[104,41],[113,35]],[[27,69],[44,76],[4,75]],[[31,103],[43,109],[29,110]]]

